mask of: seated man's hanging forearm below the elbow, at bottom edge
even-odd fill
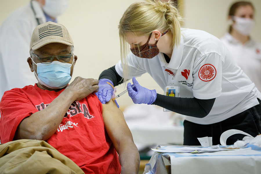
[[[134,142],[127,140],[119,145],[119,162],[122,166],[121,174],[139,171],[139,152]]]

